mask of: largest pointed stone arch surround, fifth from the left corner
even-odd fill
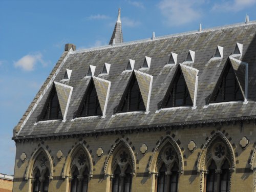
[[[223,141],[223,143],[226,144],[227,152],[229,153],[229,156],[230,156],[230,159],[228,159],[230,161],[230,166],[231,166],[232,169],[236,168],[236,159],[235,159],[235,156],[234,156],[234,151],[233,151],[232,145],[230,144],[229,140],[225,137],[225,135],[222,132],[217,131],[217,132],[215,132],[214,134],[212,134],[210,136],[210,138],[206,141],[206,143],[204,144],[204,146],[202,148],[202,151],[199,155],[198,163],[197,163],[197,172],[198,173],[206,171],[206,168],[205,168],[205,166],[206,166],[206,162],[205,162],[206,154],[207,154],[209,146],[217,138],[220,138]]]

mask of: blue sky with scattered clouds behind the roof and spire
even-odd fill
[[[256,0],[0,1],[0,173],[14,171],[13,127],[67,43],[108,45],[121,8],[124,41],[256,20]],[[18,154],[19,156],[20,154]]]

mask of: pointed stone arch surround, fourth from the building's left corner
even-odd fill
[[[162,148],[167,144],[170,143],[177,155],[178,155],[178,160],[179,160],[179,172],[182,174],[183,170],[184,170],[184,160],[183,160],[183,156],[182,156],[182,152],[181,149],[178,145],[178,143],[174,140],[174,138],[170,135],[166,135],[156,146],[152,157],[150,159],[150,163],[148,165],[148,172],[151,173],[155,173],[156,172],[156,164],[157,164],[157,159],[158,159],[158,153],[162,150]]]

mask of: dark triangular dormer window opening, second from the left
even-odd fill
[[[89,82],[89,87],[84,94],[82,102],[79,106],[76,116],[77,117],[86,117],[86,116],[95,116],[102,115],[100,108],[99,99],[95,89],[93,79],[91,78]]]

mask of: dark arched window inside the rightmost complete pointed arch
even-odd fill
[[[226,159],[226,146],[217,143],[211,148],[212,159],[207,168],[206,192],[228,192],[230,183],[230,164]]]

